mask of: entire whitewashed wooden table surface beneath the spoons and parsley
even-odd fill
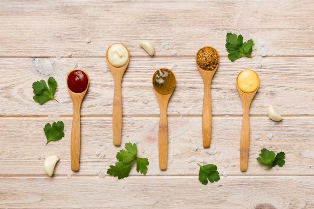
[[[314,208],[313,4],[0,1],[0,208]],[[229,32],[254,41],[252,59],[227,58]],[[154,45],[153,57],[139,46],[143,39]],[[122,80],[120,147],[112,143],[114,81],[105,61],[113,43],[130,52]],[[208,45],[218,50],[220,64],[211,90],[211,148],[204,149],[204,83],[195,55]],[[90,86],[81,109],[80,170],[73,172],[66,74],[76,67],[89,74]],[[160,109],[151,80],[165,67],[173,70],[177,85],[168,106],[168,169],[161,171]],[[249,112],[248,169],[241,172],[242,104],[235,79],[247,68],[258,73],[260,86]],[[49,77],[58,82],[59,103],[40,105],[32,84]],[[268,118],[269,104],[282,121]],[[65,136],[46,145],[43,127],[54,121],[64,122]],[[106,171],[128,142],[148,158],[148,171],[142,175],[133,167],[130,176],[117,180]],[[265,170],[256,160],[262,148],[285,152],[285,165]],[[96,155],[99,151],[105,156]],[[60,160],[49,177],[44,158],[53,154]],[[221,185],[201,184],[197,163],[217,165]]]

